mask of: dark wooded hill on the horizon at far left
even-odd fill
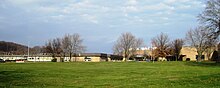
[[[17,54],[22,55],[27,53],[27,46],[14,42],[0,41],[0,54]]]

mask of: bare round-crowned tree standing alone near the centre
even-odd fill
[[[131,33],[123,33],[113,46],[113,51],[114,54],[123,55],[127,61],[142,44],[142,39],[136,38]]]

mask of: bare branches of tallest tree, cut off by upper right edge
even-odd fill
[[[211,29],[213,38],[220,34],[220,0],[209,0],[203,13],[198,16],[199,21]]]

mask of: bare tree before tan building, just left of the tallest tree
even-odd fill
[[[201,62],[204,51],[209,47],[209,30],[201,26],[194,30],[191,29],[186,34],[186,40],[191,46],[196,48],[198,54],[197,61]]]

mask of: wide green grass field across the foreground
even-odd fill
[[[0,63],[0,87],[220,88],[220,65],[207,62]]]

